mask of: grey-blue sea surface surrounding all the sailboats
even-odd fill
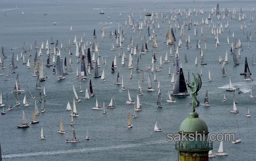
[[[179,126],[181,122],[188,117],[188,114],[191,109],[191,104],[189,104],[190,98],[188,97],[173,97],[176,100],[176,103],[167,103],[165,100],[168,99],[168,89],[171,91],[173,85],[171,84],[171,77],[168,77],[168,70],[171,67],[171,73],[175,74],[175,81],[177,78],[176,66],[172,65],[173,57],[169,56],[170,47],[166,47],[166,43],[163,43],[164,33],[168,30],[169,24],[168,20],[165,23],[161,23],[164,28],[157,29],[155,25],[154,31],[157,33],[158,39],[158,50],[159,53],[156,53],[156,58],[159,60],[162,56],[164,60],[165,54],[168,51],[168,60],[171,63],[164,63],[164,67],[161,68],[161,72],[156,72],[156,78],[160,80],[161,94],[162,94],[162,104],[163,108],[157,108],[157,83],[152,82],[155,92],[147,92],[147,81],[142,82],[142,88],[144,95],[140,96],[142,101],[142,111],[138,112],[138,117],[131,119],[133,123],[133,128],[127,128],[127,115],[129,111],[133,111],[133,105],[127,105],[125,102],[128,100],[128,91],[121,90],[121,85],[115,85],[117,71],[120,71],[120,76],[123,75],[124,86],[126,89],[129,89],[132,100],[136,99],[136,95],[139,94],[137,82],[138,79],[141,80],[142,73],[136,72],[133,69],[133,78],[129,79],[130,69],[126,69],[121,65],[121,58],[118,57],[118,51],[110,51],[110,46],[112,43],[115,44],[115,38],[113,40],[108,38],[110,31],[115,31],[115,28],[118,29],[118,24],[121,22],[122,28],[126,33],[127,39],[123,42],[124,52],[127,57],[129,53],[126,50],[126,46],[130,42],[130,36],[134,39],[136,44],[138,43],[139,50],[141,50],[142,41],[137,39],[139,34],[138,30],[135,30],[136,33],[132,33],[131,27],[129,30],[124,26],[125,20],[129,22],[128,14],[133,11],[134,22],[137,20],[140,21],[140,6],[146,12],[166,12],[169,17],[169,12],[172,7],[180,8],[184,13],[186,7],[191,8],[192,10],[196,8],[199,12],[199,9],[202,8],[203,11],[208,13],[212,8],[216,6],[217,3],[220,5],[220,12],[222,9],[228,8],[230,11],[233,11],[233,8],[236,7],[236,11],[239,12],[240,7],[244,9],[244,13],[247,14],[247,19],[245,23],[247,29],[244,30],[245,35],[254,30],[255,24],[250,22],[251,27],[248,27],[248,20],[250,15],[256,18],[256,12],[251,13],[251,9],[255,4],[255,1],[202,1],[200,3],[192,1],[157,1],[157,5],[154,5],[154,1],[68,1],[68,0],[55,0],[55,1],[1,1],[0,2],[0,45],[4,46],[5,54],[8,58],[4,59],[5,66],[8,68],[8,64],[11,64],[12,52],[14,52],[15,58],[19,54],[19,62],[15,61],[15,65],[18,65],[18,68],[15,69],[16,74],[19,74],[19,81],[21,89],[24,89],[27,94],[27,102],[30,103],[30,106],[24,107],[23,105],[16,106],[15,103],[15,94],[12,92],[13,87],[15,86],[16,74],[12,73],[12,68],[9,70],[3,69],[0,73],[6,73],[8,71],[9,80],[5,80],[4,76],[0,77],[0,88],[2,91],[3,99],[6,104],[5,106],[5,115],[0,116],[1,130],[0,130],[0,142],[1,148],[4,152],[5,158],[8,161],[27,161],[27,160],[177,160],[178,151],[175,151],[175,142],[166,141],[167,133],[177,133],[179,131]],[[18,8],[16,8],[16,5]],[[92,9],[93,8],[93,9]],[[9,16],[4,16],[5,10],[8,10]],[[105,14],[99,14],[103,9]],[[25,14],[21,14],[22,11]],[[119,16],[121,12],[121,16]],[[142,12],[142,19],[144,19],[144,14]],[[43,15],[47,13],[48,15]],[[174,15],[174,9],[172,10]],[[182,13],[182,14],[183,14]],[[110,15],[110,19],[108,16]],[[229,13],[231,16],[231,13]],[[203,15],[205,20],[206,15]],[[160,18],[160,16],[158,16]],[[194,20],[200,23],[202,21],[201,15],[198,17],[191,17],[192,24]],[[166,19],[166,17],[164,17]],[[183,22],[184,22],[184,17]],[[150,19],[150,17],[147,17]],[[229,20],[230,17],[226,17],[226,20]],[[179,17],[181,21],[181,17]],[[189,20],[189,19],[188,19]],[[187,20],[187,21],[188,21]],[[53,22],[56,22],[56,25],[53,25]],[[209,21],[210,23],[211,21]],[[221,20],[224,27],[224,20]],[[172,26],[174,22],[171,21]],[[217,25],[216,16],[213,18],[213,23]],[[185,36],[182,39],[182,47],[179,48],[179,64],[182,63],[183,72],[185,79],[187,79],[188,70],[190,71],[190,76],[192,80],[192,73],[200,73],[202,67],[202,88],[199,91],[197,96],[200,101],[200,107],[196,108],[196,112],[199,113],[199,117],[202,118],[208,125],[210,133],[237,133],[237,120],[240,127],[241,133],[241,143],[232,144],[231,142],[225,142],[229,155],[228,156],[216,156],[216,158],[210,158],[209,160],[242,160],[249,159],[256,160],[254,155],[255,153],[255,101],[256,99],[250,98],[250,87],[252,87],[252,93],[256,93],[255,82],[243,81],[244,76],[239,74],[244,70],[244,61],[247,56],[248,64],[250,71],[253,76],[256,75],[255,68],[256,65],[252,65],[252,53],[254,52],[256,45],[255,39],[256,36],[252,34],[252,42],[250,46],[252,49],[247,49],[247,40],[243,38],[243,32],[239,30],[241,24],[244,21],[236,21],[234,19],[229,23],[230,32],[235,33],[235,37],[240,38],[243,43],[243,51],[241,51],[241,58],[239,58],[240,65],[234,66],[233,56],[230,55],[231,45],[227,45],[227,36],[229,36],[230,44],[235,42],[235,39],[229,35],[229,29],[224,29],[223,35],[219,36],[220,45],[218,48],[215,48],[215,36],[211,35],[211,30],[207,30],[206,34],[205,25],[203,27],[203,35],[200,35],[201,26],[196,26],[198,29],[198,37],[193,36],[194,25],[191,30],[187,30],[186,26],[185,34],[190,35],[191,46],[190,49],[185,49]],[[74,31],[69,31],[70,26]],[[101,41],[102,32],[99,31],[99,28],[103,26],[105,30],[104,42]],[[219,26],[218,26],[219,27]],[[16,126],[21,125],[22,121],[22,109],[25,111],[26,119],[29,122],[32,119],[34,111],[34,101],[29,97],[27,86],[29,86],[33,95],[37,98],[37,105],[40,107],[39,100],[39,90],[35,89],[36,86],[36,77],[32,77],[32,68],[27,69],[26,65],[22,64],[22,59],[20,58],[20,53],[22,52],[22,43],[25,42],[27,55],[30,53],[33,54],[32,57],[29,57],[31,60],[31,66],[33,67],[33,60],[35,52],[39,51],[32,50],[30,51],[30,44],[34,44],[34,41],[37,40],[38,46],[41,46],[41,43],[44,42],[44,45],[47,39],[51,39],[53,36],[54,42],[58,39],[59,45],[63,43],[63,47],[68,44],[68,39],[71,42],[74,41],[75,35],[77,36],[77,41],[83,37],[83,41],[86,43],[90,41],[95,41],[93,38],[93,30],[96,30],[97,42],[99,43],[99,53],[103,59],[107,58],[108,68],[104,68],[101,58],[99,65],[99,74],[102,73],[103,68],[105,69],[106,81],[101,82],[101,79],[93,78],[94,71],[92,75],[89,75],[87,80],[81,84],[81,88],[85,91],[89,90],[89,80],[92,80],[92,86],[94,93],[97,95],[99,106],[103,107],[103,101],[105,101],[105,106],[110,102],[111,95],[113,94],[117,108],[115,109],[106,109],[108,111],[107,115],[103,115],[103,111],[92,110],[92,107],[95,106],[96,97],[90,97],[90,100],[85,99],[85,92],[79,93],[79,84],[76,76],[76,68],[78,67],[80,71],[80,64],[76,63],[77,57],[75,55],[71,56],[73,63],[73,72],[69,71],[68,64],[68,75],[66,79],[58,80],[57,75],[52,74],[53,67],[45,67],[44,72],[47,72],[47,79],[45,82],[41,82],[41,86],[45,86],[46,94],[48,97],[44,99],[47,101],[44,104],[46,112],[41,116],[37,116],[37,119],[40,121],[39,124],[30,125],[27,129],[17,129]],[[160,31],[163,35],[160,35]],[[177,41],[176,46],[179,41],[180,30],[176,30]],[[85,38],[84,38],[85,32]],[[146,39],[149,40],[147,36],[147,30],[141,31],[144,42],[144,34],[146,34]],[[152,30],[150,31],[152,32]],[[198,66],[194,65],[195,57],[199,56],[199,49],[196,49],[196,41],[201,40],[200,46],[204,48],[204,37],[207,38],[207,49],[205,52],[205,62],[207,65],[200,65],[200,59],[198,59]],[[142,55],[143,64],[140,63],[140,68],[145,69],[146,63],[151,63],[152,59],[152,44],[153,41],[149,42],[149,52],[148,54]],[[115,45],[116,46],[116,45]],[[51,45],[53,49],[54,44]],[[12,49],[12,50],[11,50]],[[224,58],[226,50],[228,51],[229,64],[226,64],[227,67],[227,77],[222,76],[222,64],[219,64],[219,56],[222,55]],[[40,61],[43,60],[46,64],[47,54],[46,50],[43,50],[43,56],[41,56]],[[72,45],[71,52],[75,53],[75,45]],[[175,51],[172,50],[172,53],[175,54]],[[185,63],[184,55],[187,55],[188,62]],[[92,52],[91,52],[92,54]],[[65,52],[64,49],[61,50],[61,57],[67,56],[68,52]],[[115,68],[116,72],[111,73],[111,64],[114,60],[114,57],[117,56],[117,65],[118,68]],[[53,55],[50,55],[51,61]],[[68,60],[68,59],[67,59]],[[87,63],[87,58],[85,59]],[[134,62],[137,61],[137,57],[133,56]],[[175,60],[176,61],[176,60]],[[128,64],[128,61],[125,62]],[[94,65],[95,66],[95,65]],[[208,81],[208,72],[209,69],[212,75],[212,82]],[[144,71],[144,77],[147,80],[148,71]],[[154,74],[150,71],[151,80],[153,79]],[[233,86],[240,87],[243,94],[237,94],[235,92],[235,99],[238,101],[237,109],[239,110],[238,114],[229,113],[233,109],[233,93],[226,92],[227,101],[222,101],[224,97],[224,90],[229,84],[229,78]],[[81,102],[76,103],[77,112],[79,117],[74,118],[75,122],[75,132],[76,137],[82,142],[79,143],[66,143],[65,140],[71,138],[72,129],[70,128],[69,123],[71,122],[70,112],[66,111],[65,108],[67,103],[70,102],[72,105],[72,100],[75,97],[72,85],[75,86],[75,89],[78,92],[78,96],[81,98]],[[204,97],[206,89],[209,92],[209,99],[212,104],[211,107],[204,106]],[[9,94],[10,103],[13,107],[12,111],[7,110],[6,102],[6,92]],[[22,103],[24,93],[18,94],[19,101]],[[247,118],[248,108],[250,108],[251,118]],[[1,109],[2,110],[2,109]],[[60,128],[60,118],[63,117],[64,130],[65,134],[57,133]],[[154,125],[155,121],[158,120],[158,126],[162,128],[162,132],[155,133]],[[39,139],[40,130],[43,127],[44,136],[46,140]],[[90,137],[89,141],[86,141],[86,131],[88,130],[88,135]],[[214,150],[217,151],[219,148],[219,142],[214,142]],[[224,147],[224,151],[226,148]],[[40,159],[39,159],[40,158]]]

